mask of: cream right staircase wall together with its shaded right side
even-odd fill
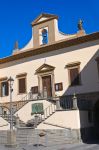
[[[56,111],[55,114],[41,123],[38,129],[80,129],[91,126],[93,126],[93,124],[88,121],[87,111],[71,110]]]

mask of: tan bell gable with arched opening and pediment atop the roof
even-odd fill
[[[32,22],[34,48],[55,42],[56,15],[41,14]]]

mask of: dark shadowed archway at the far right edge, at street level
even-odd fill
[[[94,129],[99,138],[99,100],[94,105]]]

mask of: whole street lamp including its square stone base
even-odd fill
[[[13,78],[10,77],[8,79],[9,83],[9,91],[10,91],[10,130],[7,132],[7,144],[5,146],[7,147],[16,147],[16,132],[13,130],[13,108],[12,108],[12,92],[13,92]]]

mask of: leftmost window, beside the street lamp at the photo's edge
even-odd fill
[[[8,81],[1,82],[1,96],[8,96],[9,95],[9,86]]]

